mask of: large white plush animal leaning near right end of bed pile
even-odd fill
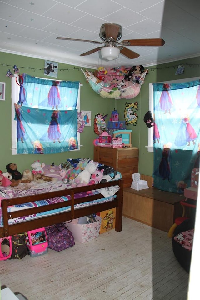
[[[74,179],[72,187],[82,187],[89,184],[91,174],[96,171],[98,163],[91,160],[81,173]]]

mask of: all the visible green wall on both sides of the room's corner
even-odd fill
[[[176,67],[181,63],[184,63],[184,74],[175,75]],[[45,61],[43,59],[0,52],[0,82],[6,83],[6,100],[0,101],[0,128],[2,128],[0,170],[3,172],[6,171],[5,166],[8,163],[17,163],[18,170],[22,173],[22,171],[26,168],[31,169],[31,163],[37,159],[40,159],[40,161],[44,162],[45,164],[50,164],[53,162],[55,164],[59,164],[66,161],[67,158],[93,158],[93,140],[96,138],[96,134],[94,133],[93,129],[93,120],[95,118],[95,114],[108,114],[106,119],[106,121],[108,121],[112,110],[116,108],[119,113],[119,119],[123,121],[125,103],[138,101],[137,125],[129,125],[127,129],[132,129],[132,146],[139,147],[139,173],[152,175],[153,153],[148,152],[146,148],[148,144],[148,127],[143,122],[143,117],[148,111],[149,83],[200,76],[200,57],[152,66],[149,68],[149,73],[145,77],[145,83],[142,85],[141,91],[137,97],[130,100],[115,100],[102,98],[95,93],[86,82],[83,72],[78,67],[59,63],[58,68],[62,71],[58,71],[57,79],[80,81],[83,84],[81,87],[81,110],[88,110],[92,112],[91,127],[86,126],[83,133],[80,134],[80,144],[83,145],[83,147],[80,148],[80,151],[44,154],[42,157],[34,154],[12,155],[11,79],[6,76],[6,72],[8,69],[12,71],[13,66],[17,65],[17,67],[20,69],[20,74],[27,73],[31,76],[45,78],[43,75],[44,64]],[[51,77],[47,76],[47,78]]]

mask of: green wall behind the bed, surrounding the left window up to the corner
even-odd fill
[[[5,66],[4,66],[5,65]],[[6,83],[6,100],[0,101],[0,128],[1,130],[1,155],[0,155],[0,170],[6,172],[6,165],[8,163],[17,163],[19,172],[26,168],[31,169],[31,164],[39,159],[45,164],[55,163],[58,165],[65,162],[67,158],[93,158],[93,140],[97,137],[94,133],[93,121],[96,113],[108,114],[114,108],[115,100],[101,98],[90,88],[89,83],[86,82],[83,72],[78,67],[67,64],[58,64],[58,68],[69,69],[58,71],[58,80],[80,81],[81,87],[81,110],[91,111],[91,127],[85,126],[83,133],[80,133],[80,144],[83,147],[80,151],[69,151],[57,154],[44,154],[42,156],[27,154],[27,155],[12,155],[11,147],[11,78],[6,76],[8,69],[12,71],[13,66],[17,65],[20,69],[20,74],[27,73],[31,76],[42,78],[52,78],[44,75],[45,61],[43,59],[29,58],[26,56],[13,55],[10,53],[0,52],[0,82]],[[24,67],[24,68],[22,68]],[[71,70],[70,70],[71,69]],[[54,78],[55,79],[55,78]]]

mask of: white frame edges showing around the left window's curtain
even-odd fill
[[[15,108],[14,108],[14,104],[18,102],[19,100],[19,91],[20,91],[20,86],[16,83],[16,78],[18,77],[17,74],[15,74],[11,80],[11,86],[12,86],[12,92],[11,92],[11,103],[12,103],[12,113],[11,113],[11,117],[12,117],[12,155],[21,155],[21,154],[25,154],[25,153],[17,153],[17,121],[15,120]],[[50,78],[42,78],[42,77],[37,77],[37,78],[41,78],[41,79],[45,79],[45,80],[52,80]],[[57,81],[63,81],[63,80],[57,80]],[[78,89],[78,99],[77,99],[77,106],[76,109],[78,110],[78,112],[80,112],[80,95],[81,95],[81,87],[82,84],[79,84],[79,89]],[[77,120],[78,122],[78,120]],[[79,151],[80,150],[80,133],[77,131],[77,140],[78,140],[78,148],[74,149],[74,150],[69,150],[69,151]]]

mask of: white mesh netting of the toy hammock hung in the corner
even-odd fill
[[[83,69],[81,69],[83,71]],[[104,82],[95,82],[96,77],[92,72],[83,71],[86,80],[90,84],[91,88],[94,92],[98,93],[103,98],[111,98],[111,99],[132,99],[140,93],[141,85],[144,82],[144,78],[148,72],[148,69],[145,70],[144,73],[140,74],[137,82],[127,81],[122,87],[115,87],[113,89],[109,87],[105,87]],[[98,81],[98,80],[97,80]]]

